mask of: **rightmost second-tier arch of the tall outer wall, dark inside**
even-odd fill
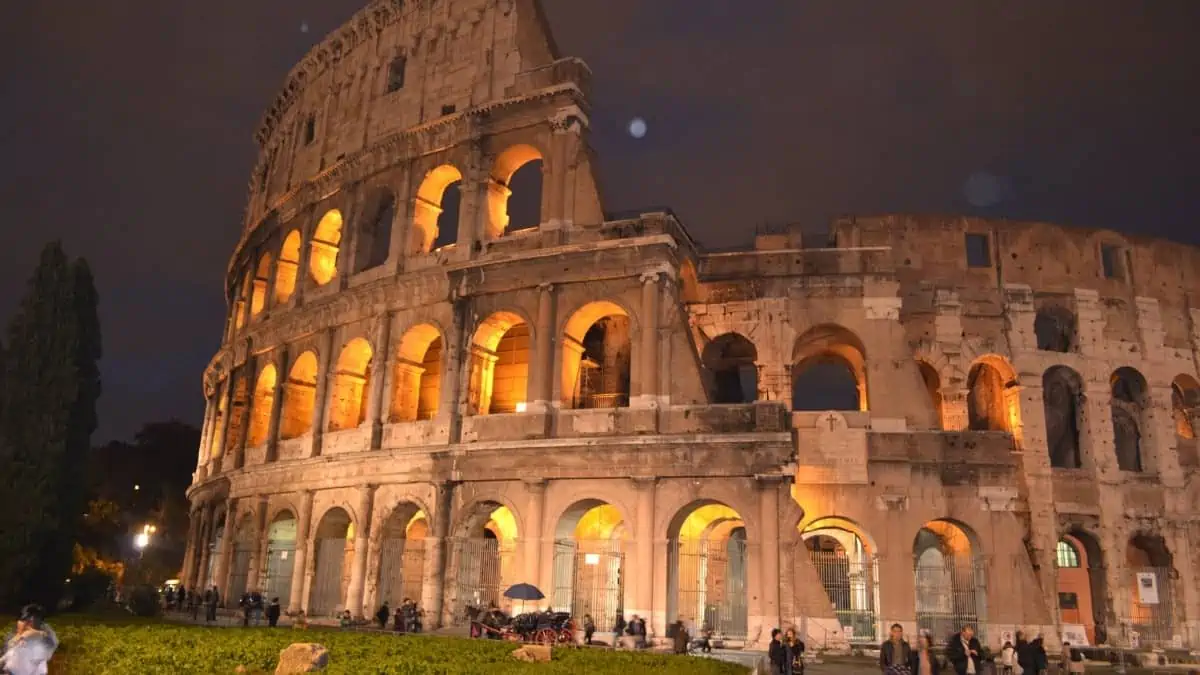
[[[628,406],[632,342],[625,310],[606,300],[588,303],[563,333],[563,405]]]

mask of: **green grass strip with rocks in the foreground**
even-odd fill
[[[330,652],[332,674],[697,674],[745,675],[739,665],[707,658],[598,649],[556,649],[552,663],[514,659],[511,643],[457,638],[401,637],[336,629],[209,628],[134,619],[59,616],[50,620],[61,645],[52,675],[191,675],[275,673],[280,650],[292,643],[319,643]]]

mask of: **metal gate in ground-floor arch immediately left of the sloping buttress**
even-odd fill
[[[678,540],[670,544],[674,616],[708,626],[716,637],[745,640],[746,542]]]

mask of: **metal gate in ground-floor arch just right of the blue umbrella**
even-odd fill
[[[554,542],[556,611],[592,620],[601,631],[617,623],[625,605],[625,554],[620,540]]]

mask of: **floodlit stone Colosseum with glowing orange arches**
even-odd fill
[[[604,210],[589,79],[536,0],[376,0],[288,74],[186,586],[1200,647],[1200,250],[906,215],[706,250]]]

